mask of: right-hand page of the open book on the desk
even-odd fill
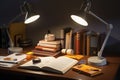
[[[48,69],[49,71],[62,73],[67,72],[72,66],[74,66],[78,61],[75,59],[71,59],[65,56],[58,57],[56,60],[47,64],[44,69]]]

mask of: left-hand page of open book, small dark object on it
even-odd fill
[[[54,57],[39,57],[41,59],[40,63],[33,64],[32,60],[26,62],[25,64],[20,65],[21,68],[26,68],[26,69],[40,69],[43,66],[46,66],[47,64],[50,64],[52,61],[55,60]]]

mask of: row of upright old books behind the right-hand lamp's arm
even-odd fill
[[[65,28],[61,30],[61,38],[63,47],[65,49],[73,49],[74,54],[82,55],[97,55],[103,43],[105,34],[91,31],[88,29],[81,29],[74,31],[72,28]]]

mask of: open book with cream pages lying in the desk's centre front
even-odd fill
[[[20,65],[19,68],[31,69],[31,70],[45,70],[54,73],[64,74],[71,67],[73,67],[78,61],[65,56],[55,57],[39,57],[41,62],[34,64],[33,61],[28,61],[25,64]]]

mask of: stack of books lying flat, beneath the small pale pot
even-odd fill
[[[35,49],[33,52],[38,55],[44,55],[44,56],[55,56],[58,53],[60,53],[60,40],[54,40],[54,41],[45,41],[40,40],[35,46]]]

